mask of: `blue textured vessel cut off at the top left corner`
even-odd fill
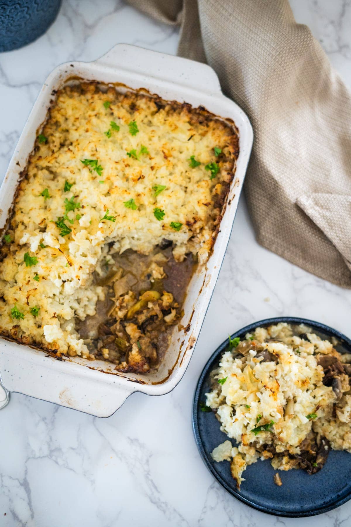
[[[43,35],[61,0],[0,0],[0,52],[16,50]]]

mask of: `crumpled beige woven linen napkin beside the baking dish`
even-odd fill
[[[178,54],[207,62],[245,110],[245,193],[257,241],[351,287],[351,98],[287,0],[128,0],[181,24]]]

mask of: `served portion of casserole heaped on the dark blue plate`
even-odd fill
[[[256,328],[229,349],[212,372],[204,411],[230,439],[212,452],[230,461],[238,489],[247,465],[269,459],[275,470],[322,469],[328,452],[351,452],[351,354],[306,326]],[[280,476],[275,482],[282,484]]]

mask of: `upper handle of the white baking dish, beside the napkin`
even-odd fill
[[[202,93],[222,93],[216,72],[207,64],[166,53],[145,50],[143,47],[131,44],[115,45],[94,63],[118,67],[145,75],[148,78],[155,77],[162,81],[170,81],[196,90],[200,86]]]

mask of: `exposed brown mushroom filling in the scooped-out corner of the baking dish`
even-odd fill
[[[97,302],[96,315],[76,321],[91,355],[122,372],[157,368],[182,317],[195,266],[192,255],[176,262],[168,240],[147,256],[109,251],[94,277],[105,288],[105,300]]]

